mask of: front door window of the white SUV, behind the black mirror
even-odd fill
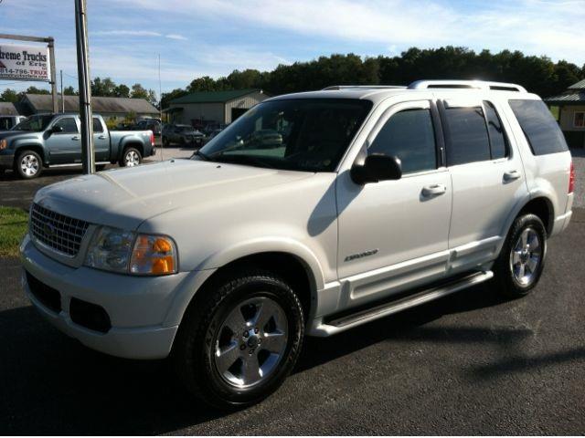
[[[437,168],[435,134],[430,110],[404,110],[394,114],[378,132],[368,153],[398,157],[402,172]]]

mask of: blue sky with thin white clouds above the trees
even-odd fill
[[[163,92],[233,69],[332,53],[395,56],[446,45],[521,50],[585,64],[585,0],[87,0],[90,73]],[[77,85],[73,0],[0,0],[0,32],[53,36]],[[0,44],[5,44],[0,40]],[[16,43],[15,44],[19,44]],[[9,87],[43,83],[0,81]]]

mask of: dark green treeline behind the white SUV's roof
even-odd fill
[[[234,70],[223,78],[195,78],[186,89],[163,93],[162,105],[166,108],[170,100],[195,91],[263,89],[278,95],[330,85],[408,85],[428,78],[514,82],[548,97],[585,78],[585,66],[554,63],[548,57],[529,57],[519,51],[475,53],[465,47],[413,47],[397,57],[362,58],[350,53],[280,65],[272,71]]]

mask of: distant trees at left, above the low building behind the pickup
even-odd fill
[[[28,87],[28,89],[21,92],[16,92],[14,89],[5,89],[2,94],[0,94],[0,101],[16,103],[22,99],[25,94],[50,94],[50,91],[48,91],[48,89],[37,89],[37,87],[34,86]],[[65,96],[77,96],[79,92],[73,87],[65,87],[63,89],[63,94]],[[146,99],[154,106],[158,105],[156,94],[153,89],[144,89],[141,84],[134,84],[132,87],[128,87],[125,84],[116,84],[112,78],[94,78],[91,81],[91,96],[99,96],[103,98]]]

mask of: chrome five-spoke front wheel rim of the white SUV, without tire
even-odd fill
[[[282,360],[288,320],[269,297],[253,297],[229,312],[214,342],[214,361],[224,381],[250,388],[265,381]]]

